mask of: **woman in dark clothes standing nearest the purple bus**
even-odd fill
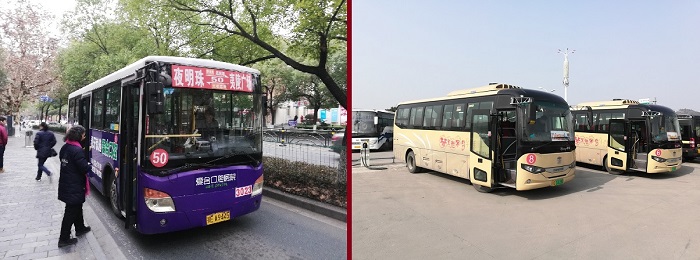
[[[83,203],[88,193],[87,172],[90,163],[80,145],[85,139],[85,128],[81,125],[71,127],[66,133],[66,144],[61,147],[61,177],[58,179],[58,199],[66,203],[66,211],[61,222],[61,235],[58,247],[78,243],[77,238],[71,238],[71,227],[75,226],[75,236],[90,232],[90,227],[83,220]]]

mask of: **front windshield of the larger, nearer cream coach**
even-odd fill
[[[559,104],[547,101],[535,101],[524,106],[525,118],[530,118],[529,106],[535,108],[535,120],[528,122],[523,120],[524,134],[523,141],[549,142],[549,141],[573,141],[574,126],[573,116],[566,104]]]

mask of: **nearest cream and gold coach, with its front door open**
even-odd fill
[[[394,120],[394,156],[409,172],[458,176],[480,192],[566,183],[575,149],[564,99],[507,84],[400,103]]]

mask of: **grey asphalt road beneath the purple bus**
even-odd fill
[[[108,202],[88,204],[107,226],[128,259],[344,259],[344,222],[263,198],[260,209],[243,217],[181,232],[141,235],[125,230]]]

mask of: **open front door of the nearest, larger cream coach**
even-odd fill
[[[493,186],[493,153],[490,110],[474,110],[471,118],[471,136],[469,144],[469,180],[479,192],[489,192]]]

